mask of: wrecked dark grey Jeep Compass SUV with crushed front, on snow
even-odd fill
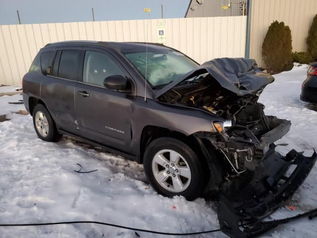
[[[60,42],[34,59],[23,99],[43,140],[78,137],[143,163],[164,196],[220,194],[220,210],[261,217],[317,159],[275,151],[291,122],[258,102],[273,81],[250,59],[199,65],[159,44]]]

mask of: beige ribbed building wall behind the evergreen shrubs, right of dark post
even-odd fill
[[[252,0],[250,58],[265,67],[262,60],[262,44],[269,25],[284,21],[292,31],[293,52],[306,51],[306,39],[314,16],[317,0]]]

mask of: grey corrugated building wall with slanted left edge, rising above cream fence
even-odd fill
[[[190,2],[190,7],[185,17],[241,16],[242,8],[239,7],[246,0],[199,0],[199,2],[201,4],[196,0]],[[228,5],[229,3],[230,7],[228,9],[222,9],[223,5]]]

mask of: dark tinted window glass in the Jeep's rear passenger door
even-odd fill
[[[64,50],[61,53],[57,76],[77,80],[77,68],[80,60],[80,51]]]

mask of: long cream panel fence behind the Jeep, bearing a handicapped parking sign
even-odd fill
[[[0,84],[20,84],[37,52],[65,40],[157,43],[157,23],[166,23],[166,45],[203,63],[244,57],[246,17],[174,18],[0,26]]]

